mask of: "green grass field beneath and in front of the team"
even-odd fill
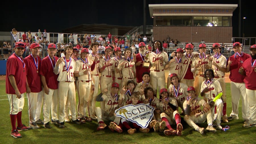
[[[232,111],[230,83],[226,83],[227,89],[227,114]],[[241,100],[240,100],[241,101]],[[96,104],[99,106],[99,103]],[[20,139],[14,139],[10,136],[11,122],[9,115],[9,102],[5,93],[5,81],[0,81],[0,143],[256,143],[255,127],[244,128],[243,119],[241,116],[241,102],[239,105],[239,120],[232,120],[228,123],[221,123],[223,126],[230,126],[230,130],[224,132],[217,130],[216,133],[207,132],[201,135],[184,121],[183,116],[183,133],[181,136],[165,136],[164,133],[155,133],[152,130],[150,133],[137,132],[129,135],[126,131],[123,133],[111,132],[108,128],[103,131],[97,131],[97,121],[87,122],[81,125],[65,123],[65,128],[59,128],[51,124],[51,129],[33,129],[29,131],[21,131],[23,136]],[[41,113],[43,120],[43,112]],[[22,111],[22,123],[28,126],[28,99],[25,98],[25,105]],[[109,122],[106,122],[109,124]],[[207,127],[207,123],[199,124],[200,127]],[[172,126],[173,128],[175,126]]]

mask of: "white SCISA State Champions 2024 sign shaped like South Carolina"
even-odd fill
[[[142,128],[146,128],[148,127],[149,123],[151,122],[154,116],[154,110],[154,107],[146,104],[129,104],[119,109],[116,109],[115,114],[118,117],[136,123],[138,126],[141,126]]]

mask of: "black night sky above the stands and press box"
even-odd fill
[[[38,3],[36,1],[18,1],[5,4],[0,11],[3,14],[0,24],[0,31],[37,32],[44,29],[47,32],[62,32],[63,29],[80,24],[110,24],[120,26],[141,26],[143,25],[143,0],[129,1],[52,1]],[[39,1],[38,1],[39,2]],[[5,1],[6,3],[6,1]],[[199,4],[238,4],[238,0],[227,1],[188,1],[173,2],[170,0],[146,0],[146,25],[153,25],[150,18],[148,4],[178,4],[178,3],[199,3]],[[238,13],[239,8],[233,12],[232,26],[233,37],[238,37]],[[241,19],[244,20],[245,37],[255,37],[255,6],[248,1],[241,3]],[[241,21],[243,24],[243,21]],[[241,28],[242,30],[242,28]]]

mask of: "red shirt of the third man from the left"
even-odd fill
[[[48,88],[58,89],[59,82],[57,81],[57,78],[59,75],[55,75],[55,73],[53,72],[53,69],[58,60],[58,57],[55,57],[55,56],[53,57],[54,59],[51,59],[48,55],[47,57],[42,59],[40,75],[43,75],[45,77],[45,81]]]

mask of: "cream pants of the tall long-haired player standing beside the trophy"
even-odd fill
[[[164,71],[150,71],[150,84],[153,86],[154,94],[157,94],[157,87],[160,89],[165,88],[165,73]]]

